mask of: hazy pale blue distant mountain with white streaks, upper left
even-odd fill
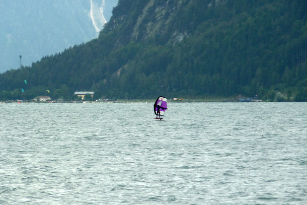
[[[117,0],[0,2],[0,73],[98,36]]]

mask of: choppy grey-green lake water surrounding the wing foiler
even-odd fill
[[[0,104],[0,204],[307,204],[307,103]]]

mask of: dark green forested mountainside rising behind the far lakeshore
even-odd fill
[[[306,11],[303,0],[119,0],[98,39],[1,74],[1,98],[307,101]]]

